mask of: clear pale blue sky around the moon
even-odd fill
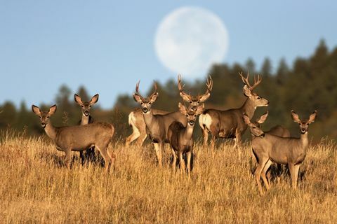
[[[230,36],[223,62],[257,66],[270,57],[308,57],[324,38],[337,45],[333,1],[0,1],[0,104],[54,103],[62,83],[100,94],[103,108],[131,94],[140,79],[176,78],[154,50],[159,22],[182,6],[223,20]],[[205,74],[206,75],[206,74]],[[202,78],[202,77],[201,77]]]

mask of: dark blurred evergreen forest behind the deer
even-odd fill
[[[284,125],[291,130],[293,136],[299,136],[298,125],[291,120],[291,109],[308,118],[315,109],[318,116],[314,124],[310,125],[309,136],[314,141],[322,138],[337,139],[337,48],[329,50],[324,41],[320,41],[315,52],[309,58],[297,58],[291,66],[281,59],[276,69],[272,68],[270,59],[266,58],[261,69],[256,69],[252,59],[245,64],[215,64],[209,74],[213,78],[211,97],[206,102],[206,108],[231,109],[242,106],[246,97],[242,92],[242,80],[239,72],[249,71],[251,81],[253,75],[260,74],[262,83],[256,87],[261,97],[270,101],[270,106],[256,110],[255,117],[266,110],[269,111],[263,130],[269,130],[273,125]],[[184,90],[191,94],[203,93],[206,90],[206,75],[204,80],[196,80],[186,84]],[[135,83],[136,85],[136,83]],[[172,91],[176,90],[176,91]],[[151,92],[148,90],[147,92]],[[171,79],[166,83],[158,83],[159,98],[154,108],[167,111],[177,111],[178,102],[182,101],[178,94],[177,80]],[[85,87],[79,87],[76,92],[82,99],[90,99]],[[99,93],[99,92],[98,92]],[[74,92],[67,85],[62,85],[55,97],[58,111],[52,117],[53,125],[77,125],[81,118],[80,107],[74,103]],[[44,132],[31,109],[31,105],[22,102],[16,108],[12,102],[0,105],[0,130],[8,129],[25,131],[27,135],[37,135]],[[41,106],[41,105],[39,105]],[[47,108],[51,105],[44,105]],[[132,95],[119,95],[116,104],[110,110],[93,106],[91,111],[95,120],[107,121],[114,124],[115,137],[125,139],[131,134],[128,127],[128,113],[138,107]],[[200,137],[199,125],[195,127],[196,135]],[[249,137],[249,130],[246,131]]]

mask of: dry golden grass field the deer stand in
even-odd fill
[[[116,169],[74,162],[49,140],[14,137],[0,145],[0,223],[336,223],[337,153],[323,141],[310,147],[298,190],[288,174],[258,194],[249,144],[221,146],[214,158],[201,146],[190,179],[173,174],[169,148],[163,169],[151,146],[111,144]],[[78,154],[78,153],[74,153]]]

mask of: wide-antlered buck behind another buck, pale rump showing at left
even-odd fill
[[[206,92],[204,94],[198,94],[197,96],[192,96],[191,94],[187,94],[181,83],[181,75],[178,75],[178,90],[180,97],[183,98],[184,102],[189,103],[190,109],[197,109],[199,104],[206,102],[207,99],[211,96],[211,90],[213,88],[213,80],[211,76],[206,80]],[[161,111],[158,109],[152,109],[153,114],[165,115],[170,112],[168,111]],[[137,145],[142,146],[143,142],[145,141],[147,134],[146,134],[146,125],[145,120],[143,117],[143,111],[140,108],[134,109],[131,113],[128,114],[128,124],[132,127],[132,134],[126,138],[126,146],[129,146],[132,141],[137,139]],[[186,124],[185,124],[186,125]]]

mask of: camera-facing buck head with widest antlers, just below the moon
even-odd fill
[[[197,97],[192,96],[191,94],[187,94],[186,92],[184,92],[184,90],[183,90],[184,86],[185,85],[181,84],[181,75],[178,75],[178,90],[179,90],[180,97],[182,97],[185,102],[190,103],[189,109],[192,109],[193,111],[195,111],[197,109],[197,107],[199,106],[199,104],[205,102],[211,96],[211,90],[213,88],[213,80],[212,80],[211,76],[209,76],[209,78],[207,78],[207,83],[206,83],[207,90],[206,90],[206,92],[204,94],[201,94],[201,95],[198,94]]]

